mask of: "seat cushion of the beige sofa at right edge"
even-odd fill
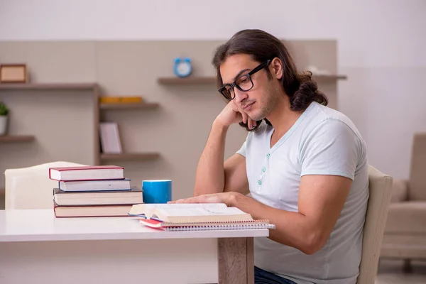
[[[406,201],[389,205],[385,234],[426,234],[426,202]]]

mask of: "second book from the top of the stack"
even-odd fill
[[[58,187],[66,192],[131,189],[128,178],[120,180],[61,180]]]

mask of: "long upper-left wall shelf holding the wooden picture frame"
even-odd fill
[[[97,87],[96,83],[3,83],[0,84],[0,90],[6,89],[43,89],[43,90],[49,90],[49,89],[62,89],[62,90],[92,90]]]

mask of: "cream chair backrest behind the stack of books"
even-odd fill
[[[49,168],[80,166],[70,162],[52,162],[4,172],[5,209],[52,209],[53,188],[58,181],[50,180]]]

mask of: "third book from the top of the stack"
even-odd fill
[[[53,189],[53,200],[57,206],[70,205],[111,205],[143,203],[143,191],[138,187],[130,190],[108,190],[96,192],[64,192],[59,188]]]

